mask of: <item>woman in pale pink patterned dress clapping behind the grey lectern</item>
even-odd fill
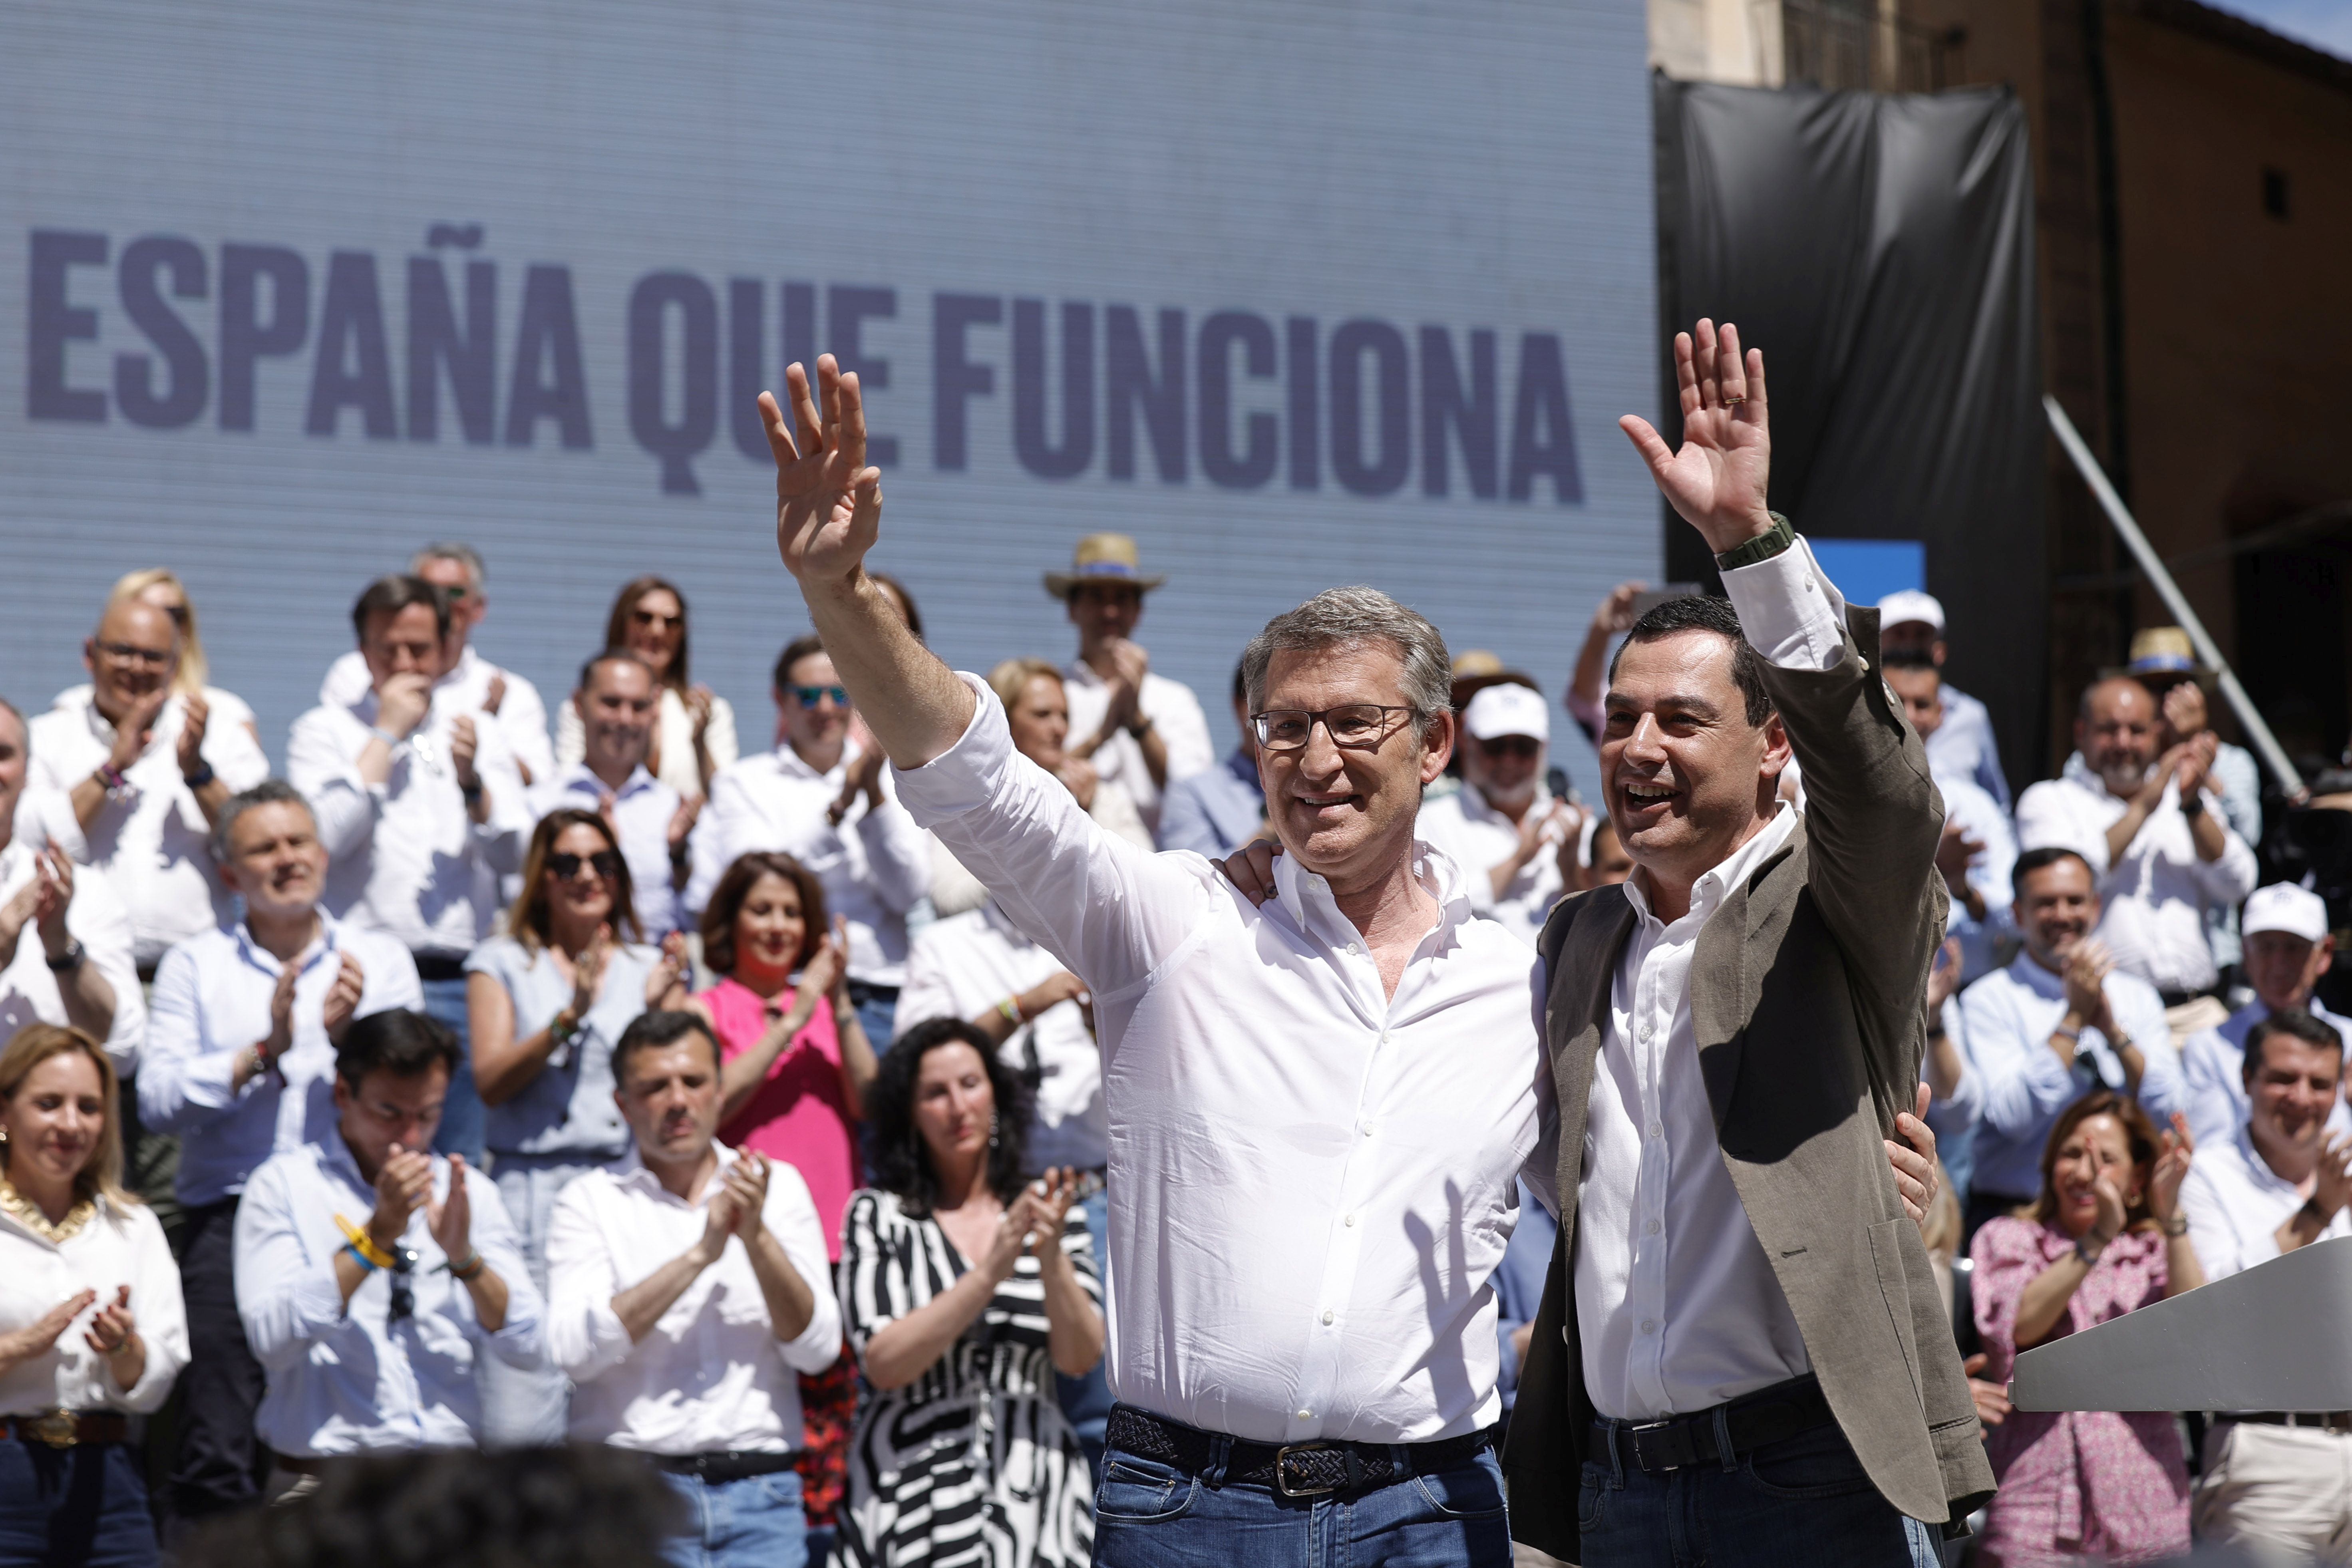
[[[2157,1135],[2110,1088],[2074,1100],[2042,1150],[2032,1211],[1976,1232],[1971,1293],[1985,1378],[2020,1349],[2152,1307],[2204,1284],[2180,1218],[2190,1128]],[[2002,1490],[1985,1516],[1987,1568],[2147,1563],[2190,1549],[2190,1476],[2171,1413],[2011,1410],[1985,1439]]]

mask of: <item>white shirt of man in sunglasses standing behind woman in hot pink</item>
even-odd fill
[[[990,698],[993,701],[993,698]],[[849,978],[898,985],[906,978],[906,912],[931,886],[931,842],[898,804],[889,771],[882,809],[866,795],[835,827],[826,811],[842,792],[856,748],[818,773],[790,745],[746,757],[710,785],[710,809],[696,825],[694,879],[687,907],[703,910],[736,856],[781,849],[826,889],[826,910],[849,922]]]

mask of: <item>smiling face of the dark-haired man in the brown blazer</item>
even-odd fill
[[[1771,818],[1785,766],[1780,717],[1748,722],[1726,637],[1686,630],[1625,644],[1609,682],[1602,785],[1635,865],[1691,886]]]

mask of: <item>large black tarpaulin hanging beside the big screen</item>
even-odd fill
[[[1917,538],[1952,684],[2011,785],[2039,776],[2046,557],[2025,110],[1656,78],[1658,301],[1738,322],[1771,383],[1771,503],[1823,538]],[[1665,371],[1668,440],[1679,433]],[[1712,578],[1668,522],[1675,578]]]

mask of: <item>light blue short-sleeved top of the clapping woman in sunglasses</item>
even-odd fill
[[[612,1098],[612,1048],[644,1011],[644,980],[659,954],[619,943],[604,961],[595,1006],[579,1034],[548,1053],[546,1067],[513,1100],[492,1105],[482,1147],[494,1154],[567,1154],[602,1164],[628,1152],[628,1124]],[[515,1039],[539,1034],[555,1013],[572,1006],[572,980],[555,969],[546,947],[527,950],[510,936],[494,936],[466,959],[468,976],[489,976],[515,1004]]]

